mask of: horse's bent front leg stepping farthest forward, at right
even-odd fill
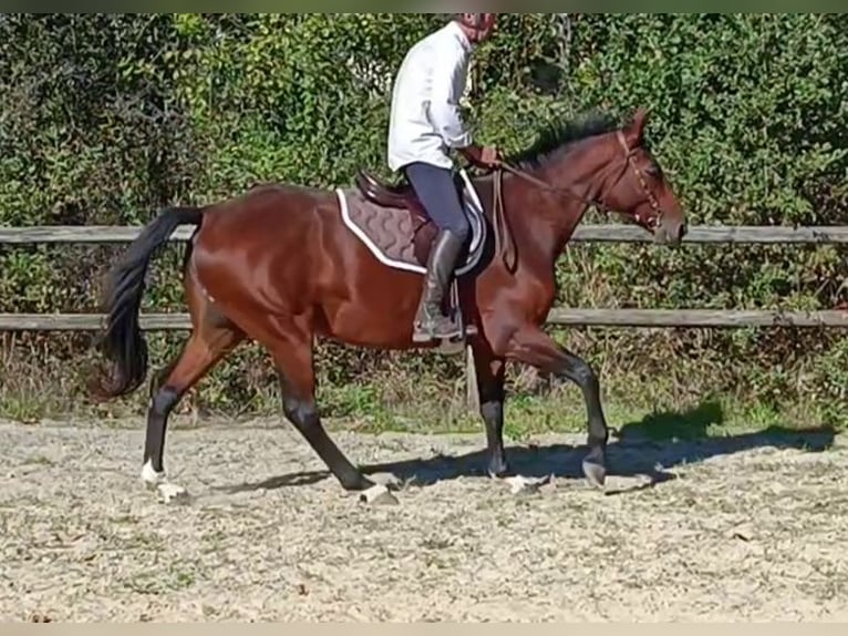
[[[590,484],[602,486],[607,475],[609,430],[601,407],[598,375],[585,360],[565,350],[537,327],[528,326],[516,331],[507,346],[507,357],[540,371],[568,378],[580,387],[589,430],[589,454],[583,459],[583,474]]]

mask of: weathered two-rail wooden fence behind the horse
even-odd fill
[[[186,240],[192,227],[178,228],[170,240]],[[0,245],[32,244],[114,244],[128,243],[139,227],[53,226],[0,227]],[[583,225],[571,243],[650,243],[642,229],[625,225]],[[714,245],[846,245],[848,226],[696,226],[684,244]],[[0,331],[91,331],[103,320],[97,314],[0,314]],[[846,328],[848,311],[714,310],[714,309],[581,309],[555,308],[547,322],[557,326],[642,327],[642,328]],[[141,319],[145,330],[184,330],[187,314],[146,314]],[[468,399],[476,400],[473,363],[468,357]]]

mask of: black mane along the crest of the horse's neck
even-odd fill
[[[613,132],[619,125],[617,117],[601,111],[552,121],[539,132],[531,146],[510,156],[509,162],[523,168],[542,167],[561,158],[576,143]]]

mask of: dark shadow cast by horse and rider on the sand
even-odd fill
[[[609,444],[609,475],[645,475],[650,481],[640,488],[648,488],[674,479],[668,469],[692,464],[720,455],[728,455],[759,448],[797,449],[821,452],[830,448],[836,435],[833,427],[815,429],[790,429],[773,425],[765,430],[710,437],[707,429],[724,421],[721,406],[704,402],[684,412],[661,412],[624,424],[611,435]],[[585,445],[550,444],[509,447],[507,458],[513,474],[526,478],[582,479]],[[413,459],[361,465],[365,474],[391,473],[402,482],[415,485],[433,485],[439,481],[486,474],[487,454],[480,450],[462,455],[436,454],[426,459]],[[230,493],[275,490],[307,485],[330,476],[325,470],[300,471],[263,480],[226,486]]]

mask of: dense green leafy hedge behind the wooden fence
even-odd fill
[[[332,186],[363,165],[385,175],[391,75],[442,19],[7,14],[0,223],[141,224],[159,206],[263,181]],[[692,224],[845,223],[846,16],[504,14],[477,57],[473,86],[478,139],[507,151],[531,143],[551,117],[650,107],[651,143]],[[1,311],[86,311],[96,309],[99,277],[120,246],[2,249]],[[184,309],[177,264],[176,248],[157,261],[145,309]],[[558,270],[560,302],[830,308],[841,298],[844,264],[831,247],[575,246]],[[837,334],[561,337],[622,399],[725,392],[775,404],[813,399],[829,413],[846,406],[848,346]],[[178,338],[153,340],[162,363]],[[22,358],[56,378],[73,377],[89,345],[69,336],[23,341]],[[338,347],[322,348],[320,363],[322,379],[337,384],[365,386],[376,372],[426,375],[436,380],[433,394],[461,371],[456,360]],[[11,372],[7,363],[7,380]],[[245,407],[272,384],[265,359],[246,351],[215,372],[205,402]],[[73,379],[63,390],[75,387]]]

